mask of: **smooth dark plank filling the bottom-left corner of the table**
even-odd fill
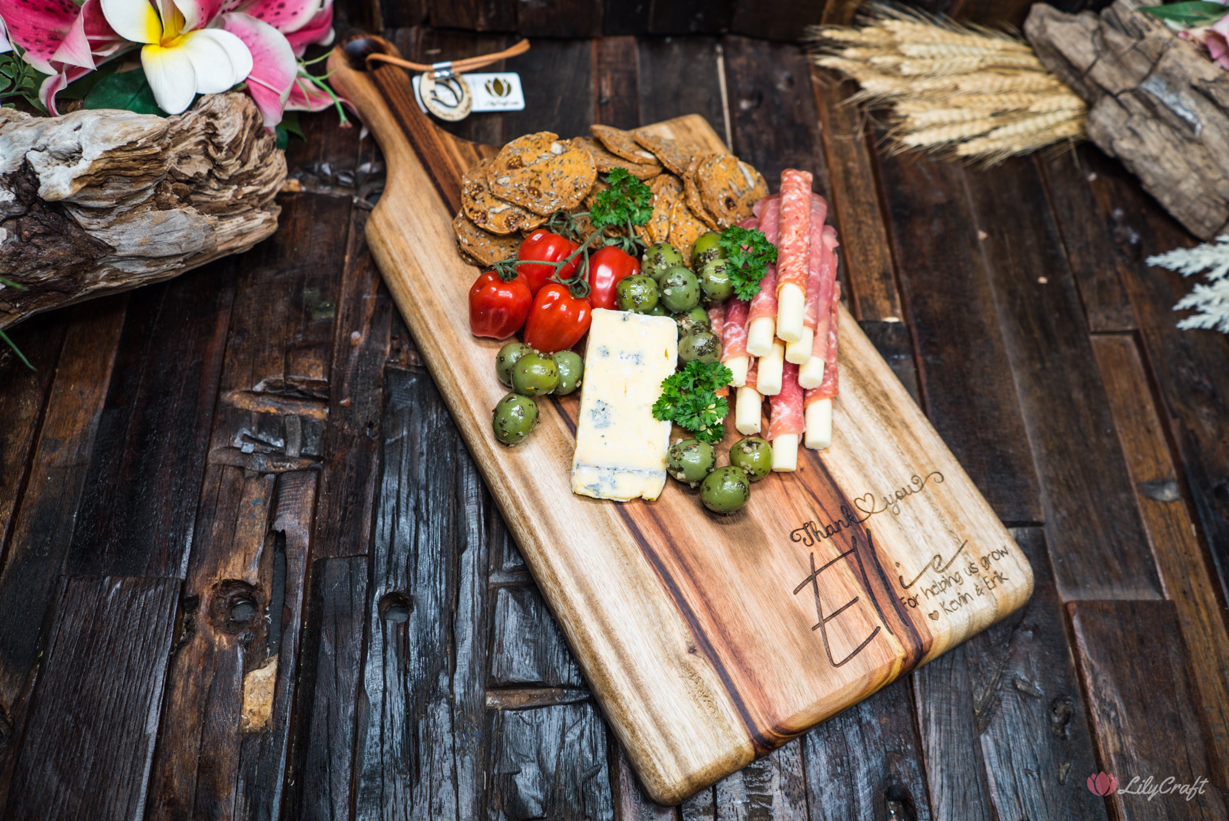
[[[178,592],[178,579],[61,581],[6,819],[141,816]]]

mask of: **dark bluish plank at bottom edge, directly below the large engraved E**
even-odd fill
[[[930,821],[909,680],[887,687],[803,736],[812,821]]]

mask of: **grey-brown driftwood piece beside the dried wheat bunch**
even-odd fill
[[[1036,4],[1037,57],[1089,104],[1085,129],[1191,234],[1229,230],[1229,71],[1163,22],[1116,0],[1100,15]]]

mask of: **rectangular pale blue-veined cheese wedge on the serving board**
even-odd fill
[[[580,388],[571,492],[595,499],[656,499],[666,484],[669,422],[653,418],[675,372],[678,331],[667,316],[594,311]]]

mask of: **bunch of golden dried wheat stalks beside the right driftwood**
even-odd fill
[[[876,4],[857,28],[811,29],[816,65],[857,80],[850,100],[887,103],[897,150],[987,165],[1084,139],[1084,101],[1010,34]]]

